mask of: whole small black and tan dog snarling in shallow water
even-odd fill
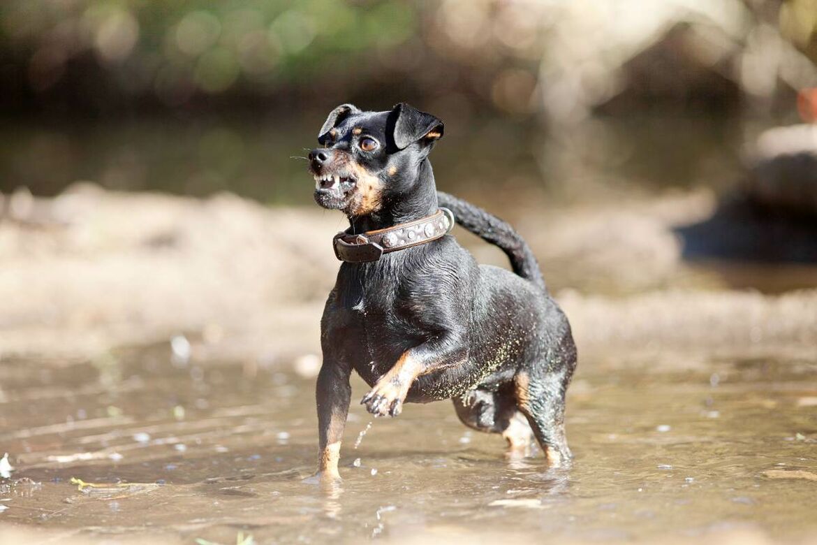
[[[452,399],[458,417],[499,433],[511,449],[536,437],[547,461],[569,461],[565,391],[576,349],[527,243],[504,221],[438,192],[428,154],[443,123],[406,104],[386,112],[341,105],[310,152],[315,201],[350,227],[321,321],[318,473],[337,460],[354,369],[375,416],[405,402]],[[447,209],[440,209],[443,206]],[[514,272],[478,265],[450,235],[459,225],[496,244]]]

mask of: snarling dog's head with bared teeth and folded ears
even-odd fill
[[[321,127],[323,148],[310,151],[315,202],[363,217],[422,183],[420,165],[443,136],[443,122],[400,103],[387,112],[344,104]]]

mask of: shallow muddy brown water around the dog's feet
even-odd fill
[[[15,468],[0,479],[0,529],[47,529],[51,543],[235,543],[239,531],[257,543],[817,535],[817,360],[583,361],[571,471],[507,460],[502,440],[467,431],[449,403],[371,427],[353,404],[333,489],[303,481],[313,379],[282,367],[292,369],[174,361],[168,346],[92,363],[3,361],[0,451]],[[72,478],[104,486],[80,491]]]

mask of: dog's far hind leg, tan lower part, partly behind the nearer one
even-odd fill
[[[462,397],[454,398],[453,404],[460,421],[467,427],[502,434],[511,455],[528,453],[534,434],[525,417],[516,409],[511,387],[498,391],[470,390]]]

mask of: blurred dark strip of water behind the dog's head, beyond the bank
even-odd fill
[[[11,119],[0,123],[0,192],[56,194],[90,180],[114,190],[229,190],[310,205],[314,183],[298,157],[318,145],[326,114]],[[639,186],[725,187],[739,175],[738,118],[627,115],[548,131],[531,120],[437,114],[446,122],[431,156],[438,185],[494,207],[609,199]]]

